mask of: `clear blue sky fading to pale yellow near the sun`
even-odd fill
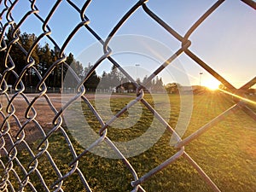
[[[165,20],[169,26],[172,26],[175,31],[183,36],[189,30],[189,27],[215,2],[211,0],[149,0],[147,5],[149,9],[153,10],[156,15]],[[53,3],[54,1],[52,0],[38,0],[36,5],[40,10],[39,15],[46,18]],[[84,1],[77,0],[73,1],[73,3],[81,7]],[[113,26],[119,22],[120,18],[135,3],[137,1],[134,0],[96,0],[90,3],[85,14],[90,19],[90,27],[101,38],[106,39]],[[28,1],[20,0],[13,10],[13,17],[16,21],[20,20],[29,9]],[[55,11],[55,15],[49,20],[49,27],[52,30],[51,37],[61,46],[65,38],[79,22],[79,13],[71,8],[66,1],[62,1]],[[42,33],[42,23],[32,15],[21,26],[21,32],[34,32],[39,35]],[[152,20],[142,8],[137,9],[116,33],[117,36],[127,34],[152,38],[154,41],[164,44],[170,50],[170,53],[177,51],[181,45],[177,39],[173,38],[172,35]],[[253,79],[256,74],[255,34],[255,10],[239,0],[226,0],[189,37],[192,42],[189,49],[207,62],[214,70],[222,74],[231,84],[240,87],[242,84],[247,83],[249,79]],[[45,42],[48,42],[47,38],[42,39],[40,44]],[[84,50],[86,52],[86,49],[91,48],[91,44],[96,44],[96,38],[90,32],[87,32],[85,28],[81,28],[68,44],[65,52],[67,54],[72,52],[76,58],[80,58],[81,54],[84,54]],[[114,51],[113,53],[115,53]],[[123,55],[116,54],[113,57],[116,57],[121,62],[120,64],[124,66],[135,67],[135,64],[139,63],[139,67],[148,70],[148,73],[159,65],[154,60],[127,53]],[[86,66],[88,61],[81,62]],[[90,62],[93,64],[94,61]],[[210,74],[199,67],[187,55],[182,54],[177,58],[177,62],[174,62],[171,67],[167,67],[165,73],[160,73],[165,83],[177,80],[181,81],[181,84],[188,83],[187,80],[182,82],[182,79],[177,78],[179,74],[175,73],[176,65],[177,67],[183,67],[190,84],[199,84],[199,73],[203,73],[201,75],[201,84],[208,84],[212,81]],[[108,71],[109,66],[108,64],[102,65],[97,69],[97,72],[101,74],[103,70]],[[143,69],[138,71],[143,71]],[[135,74],[133,73],[132,75]],[[143,79],[144,73],[137,73],[137,75],[141,75],[141,79]]]

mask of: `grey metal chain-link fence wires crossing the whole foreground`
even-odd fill
[[[151,106],[145,99],[143,94],[143,87],[137,84],[136,79],[132,79],[132,77],[125,71],[125,69],[119,65],[117,61],[111,57],[111,49],[108,47],[108,44],[111,42],[112,38],[115,36],[116,32],[119,31],[119,28],[125,23],[125,21],[133,15],[137,9],[143,9],[143,11],[150,17],[152,20],[156,21],[160,27],[163,27],[166,32],[177,38],[177,40],[181,43],[180,48],[177,52],[164,62],[160,67],[158,67],[152,75],[150,75],[147,79],[147,82],[150,82],[154,79],[154,76],[159,74],[162,70],[165,70],[166,66],[168,66],[172,61],[176,60],[178,55],[186,54],[192,60],[194,60],[199,66],[203,67],[208,73],[211,73],[213,77],[218,79],[225,87],[230,90],[230,92],[236,92],[236,94],[242,94],[245,90],[248,90],[256,83],[256,78],[251,79],[247,84],[244,84],[240,89],[236,89],[235,86],[230,84],[229,81],[224,79],[222,75],[217,73],[210,67],[207,63],[202,61],[197,55],[195,55],[190,49],[189,46],[193,44],[189,40],[190,35],[195,32],[195,29],[204,22],[204,20],[212,15],[212,13],[221,7],[223,1],[217,1],[212,5],[210,9],[208,9],[201,18],[195,22],[193,26],[186,32],[184,36],[180,35],[171,27],[170,24],[161,20],[158,15],[156,15],[151,9],[148,8],[146,0],[138,1],[134,4],[134,6],[127,11],[127,13],[119,20],[116,26],[113,27],[111,32],[109,33],[106,40],[100,37],[98,33],[90,27],[90,18],[86,16],[86,10],[90,7],[91,1],[86,1],[82,7],[78,7],[76,3],[73,1],[67,0],[68,5],[74,10],[77,11],[80,15],[80,22],[75,26],[70,33],[70,35],[65,39],[62,45],[57,44],[55,39],[51,37],[51,26],[49,26],[49,20],[55,14],[55,11],[59,8],[62,1],[56,1],[52,4],[52,9],[49,11],[47,16],[40,15],[40,9],[37,7],[37,1],[29,1],[31,3],[31,9],[24,13],[24,16],[21,20],[17,21],[12,16],[12,11],[15,9],[16,4],[19,1],[0,1],[2,10],[1,10],[1,53],[3,58],[1,58],[1,72],[0,72],[0,93],[2,96],[1,106],[0,106],[0,115],[1,115],[1,133],[0,133],[0,150],[1,150],[1,159],[0,159],[0,189],[1,191],[38,191],[38,189],[34,186],[35,183],[39,183],[42,189],[45,191],[64,191],[63,185],[68,177],[73,177],[73,174],[76,174],[79,177],[79,184],[84,186],[86,191],[92,191],[93,187],[91,186],[88,179],[90,176],[85,176],[84,172],[80,169],[80,164],[82,163],[82,158],[87,155],[90,148],[96,147],[96,145],[100,143],[107,143],[110,148],[113,149],[114,153],[119,156],[119,158],[123,161],[124,165],[127,167],[128,172],[131,173],[131,188],[132,191],[144,191],[143,182],[145,182],[148,178],[157,175],[163,169],[166,169],[167,166],[171,165],[174,161],[179,160],[180,158],[184,158],[188,160],[191,166],[195,167],[195,170],[201,175],[201,177],[205,180],[205,182],[214,190],[220,191],[218,186],[212,182],[212,179],[207,176],[206,172],[201,169],[201,166],[198,166],[195,160],[193,160],[189,154],[185,151],[185,146],[189,145],[189,143],[195,140],[197,137],[201,136],[204,132],[209,130],[213,125],[216,125],[218,122],[223,120],[230,113],[233,113],[238,110],[242,110],[247,113],[252,119],[256,120],[256,114],[253,112],[251,108],[247,105],[247,102],[237,100],[236,104],[231,108],[228,108],[221,113],[216,118],[212,119],[206,125],[203,125],[198,128],[197,131],[192,133],[189,137],[180,138],[176,131],[172,129],[172,126],[169,125],[165,119],[163,119],[159,113]],[[242,0],[244,6],[250,6],[253,9],[256,9],[256,3],[251,0]],[[18,32],[20,30],[20,26],[28,20],[30,15],[35,15],[36,18],[41,22],[42,33],[35,39],[32,46],[29,48],[24,48],[22,44],[19,43],[19,35]],[[6,20],[3,22],[3,17],[6,17]],[[10,42],[6,42],[6,32],[8,29],[11,29],[12,40]],[[48,84],[46,79],[49,78],[49,75],[54,72],[56,67],[69,67],[66,63],[67,55],[65,55],[65,50],[67,45],[71,42],[74,35],[79,32],[81,28],[85,28],[90,34],[96,38],[102,44],[102,49],[104,50],[104,55],[99,58],[96,63],[93,63],[90,71],[86,74],[85,78],[80,80],[78,91],[76,96],[70,99],[62,108],[56,108],[53,104],[52,99],[50,98],[48,91]],[[47,68],[47,72],[42,75],[38,72],[37,62],[32,56],[33,50],[38,46],[41,39],[47,38],[52,44],[55,45],[55,48],[58,49],[58,55],[56,61],[54,61],[51,66]],[[17,45],[18,48],[26,55],[26,66],[22,68],[20,73],[16,73],[15,67],[18,65],[12,60],[12,55],[10,54],[11,49],[14,49],[14,45]],[[85,95],[85,87],[84,82],[89,79],[90,75],[96,70],[97,67],[101,66],[102,61],[108,60],[113,63],[115,67],[119,67],[119,70],[127,79],[129,79],[133,84],[135,84],[136,91],[136,99],[133,102],[130,102],[125,108],[119,110],[118,113],[113,117],[113,119],[108,119],[107,122],[103,121],[100,114],[97,113],[96,109],[90,103],[90,100]],[[29,73],[33,73],[36,75],[38,79],[37,91],[31,97],[26,94],[26,84],[24,79],[26,75]],[[13,85],[14,93],[9,93],[9,82],[8,76],[11,76],[15,79],[15,83]],[[22,99],[26,103],[26,108],[20,117],[16,114],[17,102]],[[63,119],[62,113],[78,98],[81,98],[84,102],[90,106],[90,110],[96,116],[98,122],[102,125],[98,139],[91,144],[90,148],[85,148],[84,151],[78,151],[73,147],[73,140],[67,133],[67,130],[63,127]],[[35,108],[35,105],[38,101],[42,101],[47,103],[49,106],[49,113],[51,113],[52,121],[49,121],[48,124],[41,124],[40,120],[38,120],[38,111]],[[137,102],[141,102],[148,110],[154,114],[154,117],[159,120],[161,125],[166,126],[166,130],[170,131],[174,136],[177,137],[178,142],[175,145],[176,153],[173,154],[169,159],[160,163],[160,165],[155,166],[152,170],[145,173],[143,176],[138,177],[137,170],[133,168],[132,163],[125,158],[125,155],[119,151],[119,148],[113,143],[113,141],[108,137],[108,126],[111,123],[119,118],[119,116],[128,108],[131,108]],[[6,106],[6,108],[3,108]],[[44,112],[48,113],[48,112]],[[44,114],[41,114],[44,115]],[[44,117],[41,117],[44,118]],[[45,118],[47,118],[45,116]],[[36,144],[29,143],[27,141],[26,130],[30,129],[29,125],[33,125],[35,129],[40,133],[40,142]],[[49,131],[45,131],[45,126],[50,126]],[[17,127],[16,131],[13,131],[13,127]],[[67,172],[61,172],[63,167],[60,166],[59,163],[56,162],[54,158],[52,158],[52,153],[49,152],[49,148],[57,148],[61,146],[55,146],[54,143],[50,143],[49,139],[55,134],[55,132],[61,132],[61,137],[65,139],[65,143],[67,143],[68,153],[71,155],[71,159],[68,160]],[[34,146],[36,145],[36,146]],[[36,148],[36,149],[35,149]],[[26,150],[26,162],[22,161],[22,156],[20,156],[20,151]],[[52,183],[47,182],[48,179],[44,175],[44,169],[49,167],[41,167],[40,160],[43,158],[48,161],[47,164],[50,169],[53,170],[55,175],[55,180]],[[95,167],[95,172],[101,172],[101,168]],[[103,174],[103,173],[102,173]],[[49,175],[49,177],[51,177]],[[34,180],[33,180],[34,179]],[[117,183],[118,184],[118,183]]]

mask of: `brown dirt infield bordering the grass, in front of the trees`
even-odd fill
[[[9,95],[11,98],[13,95]],[[5,117],[9,115],[8,123],[6,123],[6,127],[4,129],[9,129],[9,136],[12,137],[13,142],[17,141],[17,137],[20,137],[23,133],[25,133],[24,140],[26,143],[34,143],[38,139],[42,139],[44,136],[42,131],[44,130],[45,134],[47,134],[51,129],[54,128],[53,119],[55,118],[55,113],[59,112],[62,106],[67,103],[70,99],[75,96],[74,94],[47,94],[49,100],[54,108],[50,108],[49,103],[47,102],[44,96],[38,97],[36,102],[33,104],[34,112],[31,110],[26,117],[26,110],[29,106],[29,103],[38,96],[38,94],[25,94],[27,98],[27,102],[25,98],[21,95],[15,96],[12,104],[14,107],[14,113],[9,115],[7,113],[6,108],[8,106],[8,100],[6,96],[0,96],[0,102],[3,105],[2,112],[4,113]],[[85,94],[84,95],[89,100],[95,99],[95,94]],[[97,99],[108,98],[110,95],[108,94],[97,94]],[[122,98],[122,97],[134,97],[134,96],[127,96],[127,95],[111,95],[111,98]],[[3,116],[0,117],[0,122],[3,122]],[[9,124],[9,126],[8,126]],[[38,125],[41,127],[38,127]],[[3,129],[3,130],[4,130]],[[24,132],[19,132],[23,130]],[[17,135],[18,134],[18,135]],[[9,137],[5,136],[5,148],[8,150],[11,148],[12,144]],[[1,144],[0,144],[1,146]],[[0,153],[3,154],[3,149],[0,149]]]

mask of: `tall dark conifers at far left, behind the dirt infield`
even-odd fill
[[[26,52],[32,47],[32,44],[36,41],[37,37],[35,34],[27,34],[26,32],[21,33],[20,31],[16,32],[16,35],[18,36],[19,40],[17,43],[12,44],[12,48],[9,51],[9,58],[8,63],[9,65],[10,58],[11,61],[14,62],[15,68],[13,69],[15,73],[20,75],[24,67],[27,65],[26,61]],[[10,44],[14,40],[12,30],[9,28],[8,32],[5,34],[5,43]],[[23,49],[23,50],[22,50]],[[25,51],[24,51],[25,50]],[[1,62],[2,65],[0,65],[0,71],[3,73],[4,71],[4,57],[5,57],[5,51],[0,52],[1,56]],[[22,82],[25,84],[26,87],[35,87],[37,86],[39,82],[38,75],[35,71],[35,69],[38,71],[38,73],[44,77],[44,75],[48,72],[49,67],[53,65],[55,61],[58,60],[59,55],[59,49],[54,47],[53,49],[50,48],[49,44],[37,44],[35,46],[35,49],[32,51],[32,59],[35,62],[35,65],[30,67],[25,75],[23,76]],[[75,61],[74,56],[72,53],[69,53],[67,55],[67,59],[65,61],[68,66],[73,68],[73,71],[78,74],[79,78],[82,78],[85,71],[88,70],[88,67],[83,67],[82,63],[79,61]],[[55,69],[49,73],[49,77],[45,80],[45,84],[49,87],[57,87],[61,88],[61,75],[65,76],[67,73],[67,67],[61,67],[59,65],[58,67],[55,67]],[[96,80],[93,80],[96,78]],[[15,77],[14,73],[7,73],[7,76],[5,77],[5,80],[7,81],[7,84],[15,84],[15,81],[17,80],[17,77]],[[91,82],[99,82],[99,77],[96,76],[96,73],[93,73],[91,78],[89,79],[89,87],[91,87]],[[93,86],[93,85],[92,85]]]

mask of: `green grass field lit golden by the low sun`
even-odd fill
[[[162,111],[159,111],[159,113],[165,116],[166,101],[162,100],[160,95],[154,97],[157,97],[157,101],[162,106]],[[145,98],[154,105],[152,96],[146,95]],[[132,99],[132,97],[111,99],[110,106],[112,112],[117,113],[120,108],[131,102]],[[250,99],[255,99],[255,97]],[[94,104],[94,101],[91,102]],[[172,127],[175,127],[180,110],[179,96],[170,95],[170,102],[172,106],[171,116],[165,118],[169,119]],[[105,103],[108,105],[108,101]],[[194,96],[192,117],[183,138],[188,137],[192,132],[207,124],[209,120],[215,118],[233,104],[232,100],[227,96],[223,96],[223,94],[208,93],[206,95]],[[71,110],[77,110],[76,105],[80,105],[80,103],[75,103]],[[101,126],[96,118],[85,104],[82,103],[82,106],[88,125],[95,129],[95,131],[99,131]],[[142,110],[143,115],[135,125],[128,129],[117,129],[110,126],[108,127],[108,137],[112,141],[123,142],[138,137],[147,131],[148,125],[151,124],[154,116],[145,107],[142,107],[140,110]],[[108,115],[103,115],[102,119],[108,119]],[[129,113],[126,112],[120,118],[125,119],[128,116]],[[132,121],[134,117],[129,116],[129,118]],[[73,117],[73,126],[76,127],[75,130],[77,131],[73,134],[79,134],[83,131],[81,120],[76,119],[75,116]],[[143,154],[128,158],[138,177],[142,177],[155,166],[159,166],[160,163],[171,157],[172,154],[175,154],[176,150],[170,146],[171,136],[169,131],[165,131],[152,148],[149,148]],[[69,137],[77,154],[80,154],[84,148],[73,138],[72,134],[69,133]],[[33,146],[36,147],[37,143],[33,143]],[[256,125],[255,121],[250,119],[246,113],[238,111],[237,113],[230,114],[218,125],[213,126],[211,130],[189,143],[185,150],[207,172],[208,176],[212,178],[212,181],[222,191],[255,191]],[[72,169],[68,166],[73,160],[72,154],[69,152],[61,131],[56,131],[49,138],[48,151],[63,175]],[[20,161],[26,161],[26,154],[28,152],[23,150],[22,155],[19,155]],[[132,189],[131,181],[133,178],[122,160],[107,159],[93,153],[87,153],[79,160],[79,169],[84,173],[84,177],[93,191],[118,192],[131,191]],[[38,160],[38,170],[42,173],[48,186],[57,179],[57,175],[53,168],[51,168],[46,154],[42,155]],[[32,178],[32,183],[36,183],[38,190],[41,191],[42,188],[39,186],[40,183],[36,178],[36,173],[32,173],[32,175],[35,176]],[[63,186],[65,191],[86,191],[79,180],[77,172],[67,177]],[[183,157],[153,177],[150,177],[142,186],[147,191],[212,191]],[[29,190],[27,189],[27,191]]]

